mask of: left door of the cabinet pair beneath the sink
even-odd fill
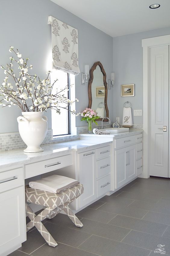
[[[127,148],[115,151],[115,188],[119,188],[126,183],[127,151]]]

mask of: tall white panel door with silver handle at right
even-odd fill
[[[168,177],[168,80],[169,46],[153,47],[150,49],[150,175],[159,177]]]

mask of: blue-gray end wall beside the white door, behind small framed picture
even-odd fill
[[[115,85],[111,89],[114,101],[113,117],[114,119],[120,117],[120,123],[122,123],[123,103],[125,101],[132,103],[132,110],[143,110],[143,49],[141,40],[168,34],[170,34],[170,27],[113,38],[113,70],[115,72]],[[135,96],[121,97],[122,84],[135,84]],[[133,117],[133,123],[143,124],[143,116]]]

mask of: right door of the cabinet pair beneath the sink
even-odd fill
[[[127,177],[126,177],[127,181],[130,181],[136,177],[135,149],[136,149],[136,145],[130,146],[127,148],[127,151],[128,151],[128,165],[127,165]]]

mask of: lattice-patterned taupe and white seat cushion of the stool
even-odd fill
[[[62,193],[51,193],[43,190],[30,188],[29,185],[25,186],[27,202],[40,204],[47,207],[56,208],[66,202],[77,198],[84,191],[82,184],[77,184],[72,188],[68,188]]]

